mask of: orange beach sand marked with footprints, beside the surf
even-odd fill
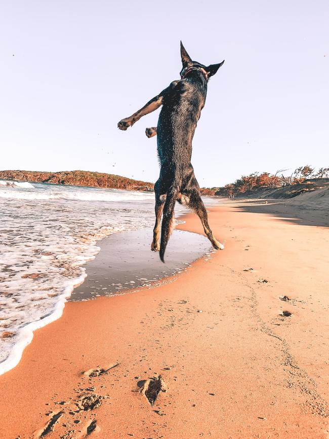
[[[323,211],[255,203],[209,208],[225,250],[36,331],[0,377],[0,437],[328,438]]]

